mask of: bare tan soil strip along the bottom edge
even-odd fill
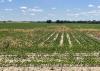
[[[100,67],[1,67],[0,71],[100,71]]]

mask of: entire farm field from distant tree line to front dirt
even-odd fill
[[[98,67],[100,24],[1,23],[0,67],[12,66]]]

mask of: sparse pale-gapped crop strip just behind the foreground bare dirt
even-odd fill
[[[61,64],[66,66],[99,66],[100,53],[0,55],[0,66],[4,67]]]

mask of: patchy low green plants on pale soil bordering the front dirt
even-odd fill
[[[13,57],[13,56],[12,56]],[[30,59],[29,59],[30,58]],[[68,55],[49,55],[34,56],[33,58],[13,57],[13,59],[3,58],[0,66],[34,66],[34,65],[68,65],[68,66],[99,66],[100,57],[96,56],[75,56],[72,53]],[[28,60],[29,59],[29,60]]]

